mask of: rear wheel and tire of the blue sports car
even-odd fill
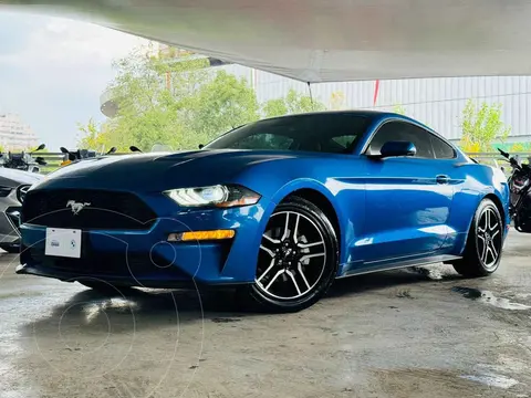
[[[488,276],[498,270],[503,247],[503,220],[494,202],[483,199],[476,210],[461,260],[454,269],[467,277]]]

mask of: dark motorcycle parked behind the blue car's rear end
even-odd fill
[[[518,155],[511,156],[500,148],[498,150],[511,166],[508,178],[511,192],[509,212],[514,229],[531,233],[531,166],[522,164]]]

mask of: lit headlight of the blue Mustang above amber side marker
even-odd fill
[[[199,188],[179,188],[164,191],[181,207],[220,207],[254,205],[260,200],[257,192],[237,185],[217,185]]]

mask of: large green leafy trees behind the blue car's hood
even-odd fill
[[[321,111],[325,106],[290,91],[259,106],[249,82],[223,70],[206,69],[207,60],[153,57],[139,51],[114,63],[116,78],[108,90],[117,115],[102,125],[80,125],[80,147],[101,150],[131,145],[150,150],[154,144],[173,149],[197,148],[218,135],[260,117]]]

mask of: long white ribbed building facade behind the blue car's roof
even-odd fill
[[[407,116],[450,140],[461,137],[462,111],[468,100],[500,104],[502,122],[511,127],[507,143],[531,143],[531,76],[406,78],[317,83],[308,85],[241,65],[222,66],[246,76],[260,103],[282,97],[289,90],[312,96],[330,109],[402,108]]]

